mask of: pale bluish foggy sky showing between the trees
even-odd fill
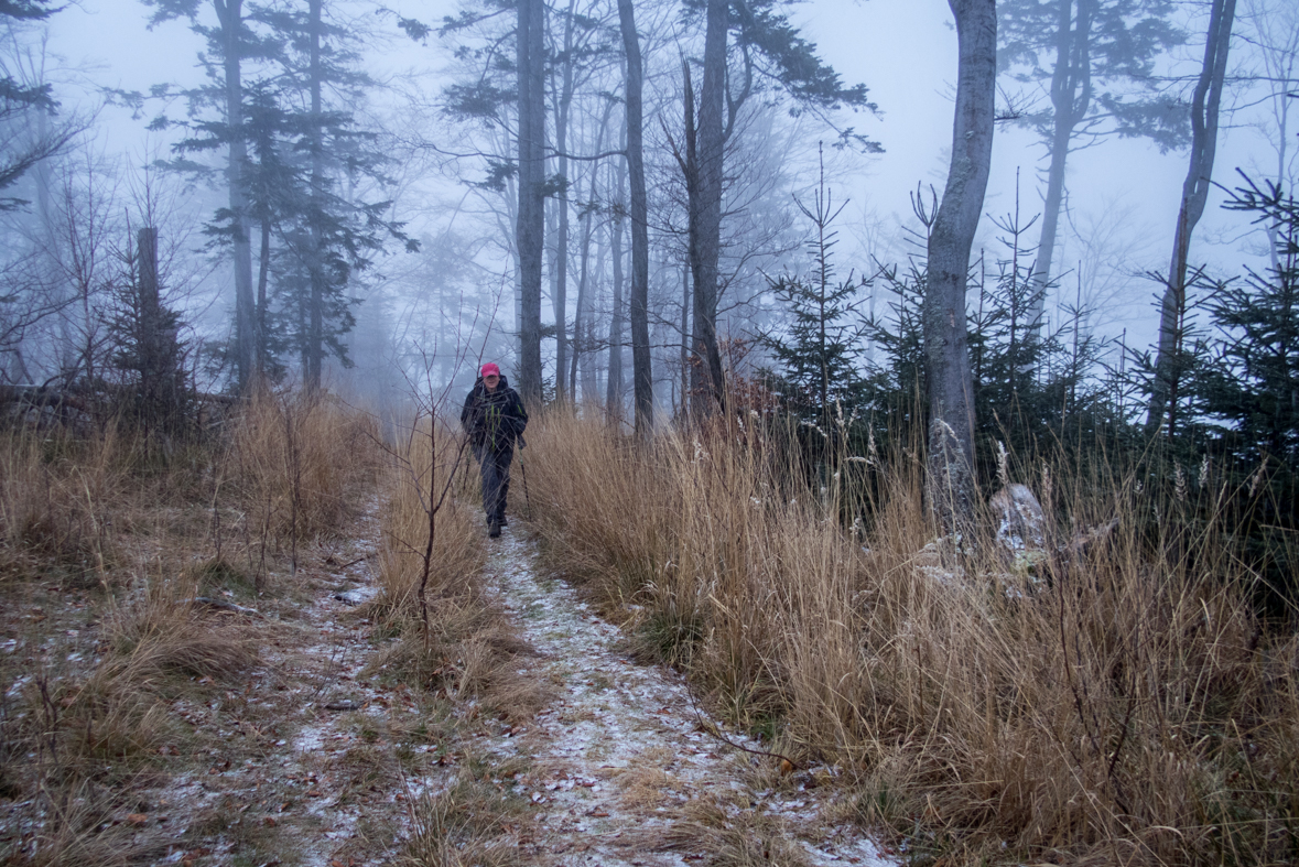
[[[1173,10],[1189,42],[1161,55],[1156,62],[1159,87],[1187,99],[1200,64],[1202,5],[1178,4]],[[1247,18],[1246,6],[1260,5],[1242,3],[1241,17]],[[513,361],[512,332],[516,328],[508,196],[494,199],[474,186],[485,170],[481,158],[456,158],[453,154],[475,153],[492,139],[501,153],[508,153],[511,145],[499,130],[468,134],[468,125],[449,122],[439,108],[439,93],[464,78],[473,62],[456,60],[453,44],[436,34],[417,43],[397,27],[403,17],[436,25],[443,16],[456,14],[460,6],[405,1],[379,8],[340,1],[331,9],[340,21],[349,19],[369,31],[360,45],[356,66],[366,70],[375,86],[364,104],[349,108],[366,127],[381,130],[386,136],[385,147],[395,157],[386,169],[392,183],[375,189],[374,195],[391,200],[390,218],[404,223],[404,231],[421,244],[418,253],[388,244],[388,249],[375,257],[373,267],[348,289],[357,302],[353,306],[356,326],[346,340],[357,369],[351,372],[335,369],[335,382],[362,383],[397,393],[413,388],[412,383],[421,376],[439,383],[456,376],[459,383],[466,383],[479,356],[496,358],[508,369]],[[169,288],[192,328],[191,340],[221,341],[231,330],[230,267],[221,250],[204,247],[208,238],[201,232],[203,223],[223,204],[220,178],[196,180],[192,175],[160,169],[144,171],[155,160],[173,157],[173,145],[184,135],[177,127],[149,130],[151,121],[160,114],[183,118],[186,101],[182,97],[145,97],[131,106],[109,92],[148,95],[151,88],[162,84],[175,90],[205,83],[199,61],[205,51],[203,39],[183,19],[151,27],[152,13],[152,8],[129,0],[82,0],[53,14],[48,23],[12,35],[8,53],[34,57],[44,39],[43,78],[53,84],[61,117],[79,113],[88,118],[75,148],[58,157],[61,165],[97,166],[97,171],[110,179],[109,186],[121,199],[117,208],[122,210],[127,208],[129,193],[134,191],[138,196],[145,183],[161,196],[165,206],[160,210],[166,210],[168,217],[162,231],[170,234],[165,240],[173,245]],[[696,23],[691,30],[681,25],[675,6],[666,4],[638,4],[638,14],[646,18],[642,30],[653,31],[646,36],[652,66],[646,128],[647,148],[657,148],[657,154],[647,154],[647,160],[662,171],[650,182],[651,199],[657,196],[666,208],[664,202],[673,195],[668,138],[681,123],[677,57],[699,51],[700,27]],[[930,186],[940,193],[947,171],[956,78],[956,34],[947,4],[814,0],[788,6],[787,14],[843,80],[866,84],[870,100],[878,105],[878,113],[840,113],[830,118],[835,125],[853,126],[882,147],[881,153],[852,148],[826,151],[827,186],[835,201],[848,202],[835,225],[839,271],[855,269],[866,274],[874,270],[874,262],[903,262],[917,252],[907,240],[907,228],[917,227],[912,197],[917,189],[926,197]],[[199,21],[212,23],[205,18],[210,16],[210,4],[207,4]],[[1247,34],[1250,26],[1248,21],[1239,22],[1238,32]],[[504,51],[513,51],[512,44]],[[1213,171],[1215,180],[1229,187],[1238,183],[1237,169],[1268,178],[1277,173],[1276,132],[1269,135],[1264,128],[1272,110],[1265,99],[1268,86],[1251,78],[1259,69],[1255,45],[1237,39],[1231,51],[1235,80],[1224,105]],[[670,80],[673,70],[677,80]],[[616,71],[601,74],[609,82],[620,75]],[[1034,92],[1007,77],[1002,83],[1007,91],[999,97],[1003,109],[1013,108],[1007,99],[1013,100],[1016,92],[1018,99],[1035,100],[1038,105],[1046,99],[1040,88]],[[734,279],[727,287],[729,295],[724,296],[722,309],[730,310],[727,322],[737,331],[733,336],[746,330],[760,332],[779,321],[781,311],[764,295],[764,275],[796,273],[808,266],[800,244],[809,227],[792,204],[795,200],[805,202],[812,196],[818,143],[833,143],[835,132],[811,114],[791,118],[788,108],[786,100],[750,112],[744,123],[752,131],[743,139],[743,147],[750,151],[744,151],[747,156],[739,162],[731,158],[730,164],[744,167],[737,171],[737,186],[727,192],[729,201],[744,205],[734,208],[727,221],[733,227],[751,221],[744,227],[746,236],[761,235],[764,239],[760,252],[731,262]],[[591,136],[596,121],[587,109],[574,119],[572,139],[577,143],[570,144],[570,151],[595,149]],[[1293,139],[1294,132],[1287,135]],[[604,143],[604,149],[616,147],[616,141]],[[188,156],[220,174],[220,152]],[[986,249],[990,258],[1004,252],[998,240],[1003,232],[996,230],[991,217],[1005,217],[1018,208],[1021,222],[1029,222],[1040,212],[1047,156],[1031,131],[1013,122],[999,123],[977,250]],[[1185,149],[1161,153],[1143,138],[1108,136],[1070,154],[1052,269],[1059,288],[1047,300],[1048,319],[1059,321],[1064,315],[1059,309],[1061,301],[1072,305],[1081,300],[1087,308],[1086,326],[1095,334],[1125,335],[1126,345],[1147,345],[1155,339],[1157,315],[1152,297],[1160,286],[1148,274],[1168,267],[1186,167]],[[583,177],[585,165],[578,164],[572,174],[578,197],[585,200],[587,193],[582,186],[588,183]],[[27,178],[23,183],[31,180]],[[1265,239],[1247,218],[1220,208],[1224,196],[1221,189],[1211,196],[1194,236],[1191,261],[1205,262],[1211,270],[1231,275],[1244,263],[1259,266],[1263,262]],[[12,222],[21,219],[21,215],[10,215]],[[1038,231],[1035,225],[1026,232],[1031,244],[1037,243]],[[582,223],[577,209],[570,214],[569,232],[566,313],[572,321],[581,267]],[[657,241],[651,240],[655,248],[651,250],[651,286],[666,305],[674,291],[672,287],[681,282],[681,250],[677,249],[679,244],[673,248],[662,240],[666,238],[662,231],[656,238]],[[588,256],[607,258],[608,243],[603,236],[595,238]],[[546,267],[542,321],[553,323],[551,260]],[[594,270],[596,263],[588,262],[587,267]],[[608,328],[603,315],[608,311],[605,295],[611,278],[603,258],[599,267],[604,288],[594,301],[592,315],[598,327]],[[673,358],[673,350],[666,347],[672,318],[672,311],[664,306],[656,332],[661,337],[656,349],[657,366]],[[544,352],[546,372],[552,376],[553,339],[544,343]],[[36,352],[29,350],[29,357],[35,358]],[[586,363],[596,365],[583,372],[594,378],[586,391],[603,395],[598,380],[607,362],[587,358]],[[53,360],[42,365],[32,362],[29,375],[36,376],[35,367],[51,375],[57,366]],[[288,366],[292,379],[294,365]],[[627,366],[630,370],[630,361]],[[6,375],[16,378],[12,370]],[[225,374],[218,371],[208,376],[209,387],[217,388]],[[655,376],[656,398],[670,408],[675,388],[673,376],[679,374],[664,369],[656,370]]]

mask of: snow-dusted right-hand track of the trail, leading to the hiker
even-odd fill
[[[538,863],[699,861],[704,815],[742,833],[774,828],[796,841],[808,864],[892,863],[859,829],[821,820],[827,790],[792,780],[781,792],[752,790],[746,764],[773,759],[755,759],[701,731],[683,678],[634,663],[620,650],[617,627],[569,585],[535,574],[533,543],[507,528],[491,544],[488,580],[521,637],[540,653],[527,674],[557,694],[516,739],[536,763],[516,790],[539,809],[535,835],[523,844]],[[761,749],[739,735],[727,739]],[[669,842],[673,851],[662,851]]]

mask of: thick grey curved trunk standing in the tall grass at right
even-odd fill
[[[959,67],[952,161],[929,238],[924,302],[929,387],[930,509],[946,532],[974,513],[974,405],[965,343],[965,283],[992,158],[996,88],[995,0],[948,0],[956,16]]]

